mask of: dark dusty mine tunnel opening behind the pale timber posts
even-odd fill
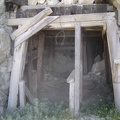
[[[75,31],[43,31],[42,81],[39,74],[39,33],[29,40],[24,79],[32,95],[52,102],[69,102],[66,79],[75,69]],[[82,29],[83,101],[112,99],[107,37],[101,31]],[[107,82],[106,82],[107,81]],[[106,84],[106,83],[109,83]],[[39,89],[39,90],[38,90]],[[106,97],[107,96],[107,97]]]

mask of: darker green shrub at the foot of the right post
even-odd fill
[[[95,115],[105,120],[120,120],[120,112],[112,103],[101,102],[99,104],[83,105],[82,113],[84,116]]]

